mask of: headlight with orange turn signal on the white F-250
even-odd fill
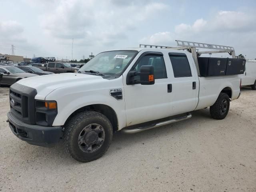
[[[36,100],[36,124],[52,126],[58,114],[56,101]]]

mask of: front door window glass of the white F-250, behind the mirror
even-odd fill
[[[140,67],[143,65],[152,65],[154,66],[154,78],[161,79],[167,78],[166,68],[164,64],[164,58],[159,54],[147,54],[140,58],[138,63],[132,68],[132,71],[140,72]],[[134,77],[135,80],[139,80],[139,76]]]

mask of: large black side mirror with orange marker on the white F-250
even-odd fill
[[[135,80],[135,76],[140,76],[140,80]],[[143,65],[140,67],[140,72],[130,71],[127,74],[126,84],[134,85],[134,84],[142,84],[142,85],[153,85],[155,84],[154,79],[154,66],[151,65]]]

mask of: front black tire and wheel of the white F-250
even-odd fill
[[[80,162],[93,161],[104,155],[113,137],[108,118],[94,111],[75,114],[64,128],[64,147],[68,154]]]

